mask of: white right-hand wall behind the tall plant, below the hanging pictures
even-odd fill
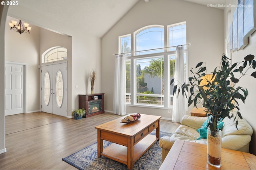
[[[233,2],[233,4],[236,5],[238,4],[238,2]],[[228,38],[228,29],[230,27],[228,23],[232,22],[232,17],[230,18],[230,20],[228,20],[228,12],[231,11],[231,14],[233,16],[234,10],[235,8],[224,9],[224,35],[226,39]],[[248,54],[252,54],[256,57],[256,31],[254,31],[254,33],[252,33],[252,35],[249,37],[249,43],[243,50],[231,53],[232,63],[243,61],[244,57]],[[255,57],[254,60],[256,59]],[[248,72],[248,74],[250,73]],[[250,142],[249,152],[256,155],[256,114],[254,110],[254,107],[256,105],[256,78],[252,76],[244,76],[240,79],[240,82],[238,82],[237,85],[241,87],[246,87],[249,92],[249,96],[246,99],[245,104],[243,102],[240,102],[239,108],[241,109],[240,112],[242,114],[242,117],[246,119],[246,121],[248,121],[254,131],[254,133],[252,134],[252,141]]]

